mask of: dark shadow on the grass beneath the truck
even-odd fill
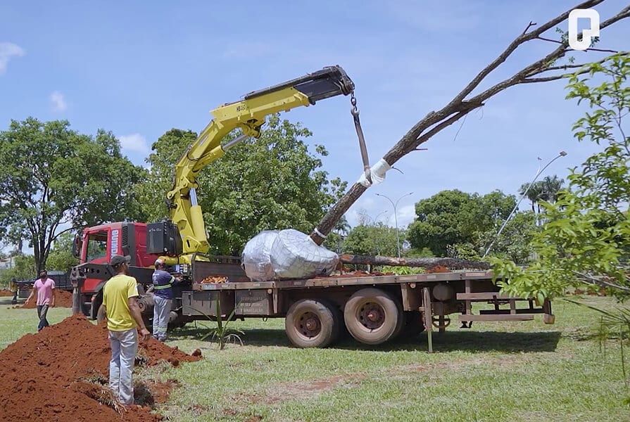
[[[184,326],[170,334],[172,340],[199,340],[207,332],[206,328]],[[277,328],[246,329],[241,335],[244,345],[251,347],[279,346],[291,347],[284,330]],[[498,331],[446,331],[433,333],[434,352],[553,352],[560,340],[559,331],[505,333]],[[372,350],[374,352],[392,352],[396,350],[417,350],[426,352],[427,333],[412,338],[398,338],[384,345],[370,346],[358,343],[349,334],[342,338],[331,349]]]

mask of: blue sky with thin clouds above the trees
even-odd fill
[[[255,89],[327,65],[356,84],[370,162],[377,162],[431,110],[441,108],[503,51],[529,20],[543,23],[577,1],[127,1],[0,4],[0,129],[11,119],[67,119],[73,129],[104,128],[142,164],[172,127],[200,131],[208,111]],[[596,9],[602,20],[626,0]],[[564,24],[566,25],[566,23]],[[563,29],[566,30],[564,27]],[[555,37],[555,34],[552,34]],[[601,46],[628,49],[630,22],[603,31]],[[553,49],[532,41],[492,82]],[[577,52],[577,60],[596,59]],[[593,152],[572,137],[584,113],[566,101],[564,82],[515,87],[396,163],[348,211],[393,224],[443,189],[517,193],[539,166],[568,155],[541,176],[566,177]],[[363,170],[347,97],[283,115],[314,132],[330,155],[324,170],[350,184]],[[455,134],[458,132],[455,137]],[[540,158],[540,160],[539,160]],[[235,175],[236,177],[236,175]],[[386,211],[386,212],[385,212]]]

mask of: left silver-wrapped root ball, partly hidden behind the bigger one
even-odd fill
[[[274,279],[270,253],[277,237],[277,230],[263,230],[246,243],[241,254],[241,264],[246,276],[252,281]]]

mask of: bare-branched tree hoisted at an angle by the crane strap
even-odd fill
[[[514,41],[510,43],[508,48],[505,49],[500,55],[493,60],[492,63],[486,66],[484,70],[481,70],[467,86],[460,91],[446,106],[437,111],[431,111],[420,122],[417,122],[403,138],[394,145],[388,153],[384,155],[382,160],[372,167],[372,170],[381,169],[382,177],[384,172],[389,170],[394,163],[398,162],[401,158],[412,151],[417,151],[417,147],[420,144],[431,139],[432,136],[441,132],[441,130],[457,122],[462,117],[465,117],[472,110],[484,106],[485,101],[492,98],[496,94],[514,87],[519,84],[535,84],[539,82],[550,82],[557,79],[567,78],[574,75],[577,70],[578,73],[588,72],[587,69],[583,69],[584,63],[575,64],[572,60],[570,63],[562,65],[557,64],[558,60],[565,58],[567,53],[571,51],[566,37],[562,37],[560,40],[550,39],[543,37],[543,34],[553,30],[557,25],[567,20],[569,13],[575,8],[592,8],[598,4],[602,4],[605,0],[589,0],[584,3],[578,4],[569,11],[558,15],[557,17],[549,20],[543,25],[538,25],[534,22],[530,22],[525,30]],[[600,30],[610,27],[619,20],[630,17],[630,6],[626,6],[619,13],[612,16],[607,20],[600,23]],[[526,44],[529,41],[546,41],[551,44],[557,44],[557,47],[550,51],[546,56],[536,60],[534,63],[525,66],[511,77],[503,79],[502,81],[493,84],[490,88],[481,91],[479,94],[474,94],[474,91],[482,84],[488,83],[488,77],[501,64],[507,60],[512,53],[514,53],[519,46]],[[587,51],[597,51],[603,53],[617,53],[617,51],[589,48]],[[600,60],[603,63],[606,60]],[[361,136],[360,136],[361,137]],[[366,176],[369,172],[366,172]],[[356,200],[370,187],[372,181],[370,177],[366,177],[367,180],[357,181],[346,194],[327,212],[320,223],[313,229],[310,234],[310,238],[321,245],[325,237],[333,229],[336,222],[344,215],[346,211],[355,203]]]

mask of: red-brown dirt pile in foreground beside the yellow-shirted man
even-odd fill
[[[154,422],[148,407],[118,413],[101,402],[108,395],[98,383],[108,378],[111,350],[107,328],[82,315],[27,334],[0,352],[0,421]],[[137,364],[194,362],[191,356],[153,340],[141,343]],[[101,399],[100,402],[96,399]]]

